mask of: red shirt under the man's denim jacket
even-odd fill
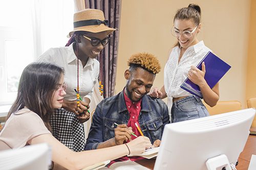
[[[124,101],[125,101],[126,108],[127,108],[128,112],[130,114],[127,127],[132,127],[134,134],[137,135],[137,136],[141,136],[140,132],[138,131],[138,129],[135,126],[135,123],[137,123],[139,125],[141,99],[138,102],[132,102],[128,98],[128,96],[125,94],[124,90],[123,90],[123,95],[124,95]],[[131,137],[132,137],[132,139],[136,138],[133,135]],[[124,141],[124,143],[125,143],[125,141]],[[123,156],[121,158],[118,158],[118,159],[115,159],[115,160],[111,161],[110,164],[108,165],[108,167],[110,165],[112,165],[113,163],[115,163],[115,162],[126,161],[126,160],[137,161],[137,160],[141,160],[141,159],[145,159],[145,158],[140,157],[140,156],[132,156],[132,157]]]

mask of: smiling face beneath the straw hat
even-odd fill
[[[108,36],[106,31],[100,33],[84,32],[82,35],[88,38],[94,37],[100,40],[103,40]],[[103,50],[104,46],[101,43],[99,43],[97,46],[93,46],[91,44],[91,41],[83,37],[82,35],[79,36],[79,55],[86,56],[92,59],[96,58],[101,50]]]

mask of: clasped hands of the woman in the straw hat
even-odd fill
[[[78,107],[76,100],[74,101],[63,100],[62,108],[75,113],[78,116],[80,123],[84,123],[90,118],[90,113],[88,113],[87,111],[90,108],[90,106],[89,106],[89,103],[87,102],[79,101],[79,107]]]

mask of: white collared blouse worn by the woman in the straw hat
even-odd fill
[[[73,50],[73,43],[70,46],[50,48],[42,54],[37,61],[55,63],[65,69],[64,81],[67,84],[65,95],[66,100],[76,100],[77,88],[77,57]],[[88,59],[83,67],[79,60],[79,93],[81,98],[91,99],[93,86],[99,75],[99,62],[96,59]]]

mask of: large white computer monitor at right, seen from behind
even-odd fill
[[[250,108],[165,125],[154,169],[231,169],[229,164],[236,164],[244,149],[254,115]]]

